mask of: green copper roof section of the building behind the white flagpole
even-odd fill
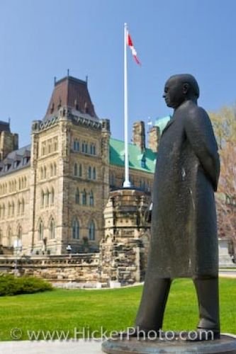
[[[110,164],[116,166],[125,166],[125,144],[118,139],[110,139]],[[130,169],[154,173],[157,154],[151,149],[141,149],[135,144],[129,144],[129,166]]]

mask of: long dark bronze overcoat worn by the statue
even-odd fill
[[[159,143],[147,273],[157,278],[218,275],[214,190],[219,173],[210,119],[187,101],[175,110]]]

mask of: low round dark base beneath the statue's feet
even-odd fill
[[[236,354],[236,336],[221,335],[214,341],[183,341],[179,337],[168,341],[167,339],[142,339],[129,338],[123,340],[111,340],[102,343],[102,350],[109,354],[164,354],[164,353],[218,353]]]

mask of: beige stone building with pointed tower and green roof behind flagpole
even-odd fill
[[[145,147],[143,122],[133,125],[130,181],[152,190],[159,129]],[[43,120],[32,123],[31,144],[18,149],[18,135],[0,122],[0,245],[11,253],[63,254],[99,250],[103,210],[110,190],[124,179],[124,144],[99,119],[86,81],[66,76],[55,87]]]

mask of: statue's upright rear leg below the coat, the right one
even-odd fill
[[[193,279],[198,296],[198,329],[220,333],[218,278]]]

